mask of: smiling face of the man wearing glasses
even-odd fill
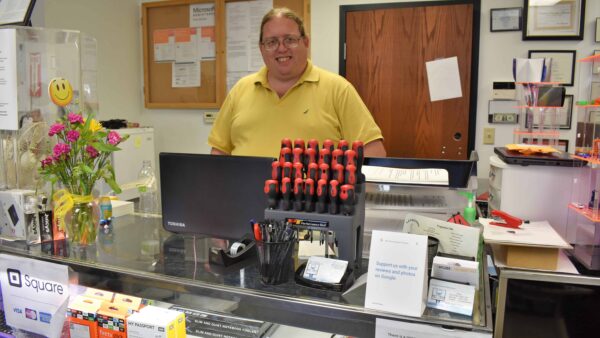
[[[267,50],[268,48],[261,43],[260,52],[269,70],[269,77],[280,81],[298,79],[304,72],[308,59],[308,38],[301,38],[296,47],[289,48],[284,44],[286,37],[300,37],[298,25],[291,19],[275,17],[263,26],[262,42],[279,40],[279,46],[274,50]]]

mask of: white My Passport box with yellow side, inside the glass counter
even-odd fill
[[[175,317],[165,316],[162,311],[134,313],[127,317],[127,337],[177,338]]]

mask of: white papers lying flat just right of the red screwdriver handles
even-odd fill
[[[379,166],[362,166],[367,182],[448,185],[448,171],[445,169],[404,169]]]

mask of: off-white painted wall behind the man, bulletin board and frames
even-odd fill
[[[39,0],[34,26],[76,29],[98,41],[98,96],[101,119],[125,118],[152,126],[156,150],[206,153],[210,125],[196,109],[145,109],[143,104],[143,61],[141,52],[141,3],[148,0]],[[405,0],[414,1],[414,0]],[[311,39],[315,64],[338,71],[339,6],[361,3],[389,3],[389,0],[312,0]],[[580,58],[600,49],[593,43],[600,1],[587,1],[584,41],[522,41],[521,32],[489,32],[490,8],[522,7],[522,0],[482,0],[479,52],[479,89],[475,148],[479,153],[479,177],[487,177],[493,146],[483,145],[481,131],[488,127],[487,109],[493,81],[511,80],[513,57],[526,57],[530,49],[577,50]],[[579,74],[575,73],[575,85]],[[575,94],[567,87],[567,94]],[[573,120],[577,112],[574,111]],[[496,128],[495,146],[512,142],[514,125]],[[561,131],[573,150],[575,123],[570,131]]]

